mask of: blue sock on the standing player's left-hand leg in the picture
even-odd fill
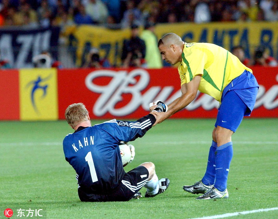
[[[215,181],[215,151],[217,148],[217,143],[215,141],[212,142],[211,147],[208,152],[208,165],[206,173],[202,178],[202,182],[207,185],[213,185]]]

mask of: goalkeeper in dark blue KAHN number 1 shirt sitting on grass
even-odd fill
[[[145,197],[154,197],[168,188],[170,180],[158,180],[152,162],[125,173],[118,146],[121,141],[145,135],[156,121],[155,114],[134,122],[112,119],[91,126],[85,106],[75,103],[68,106],[65,118],[75,130],[63,141],[65,159],[76,171],[81,201],[128,201],[138,197],[143,186],[147,188]]]

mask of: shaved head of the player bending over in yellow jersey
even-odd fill
[[[171,65],[182,61],[184,42],[175,33],[167,33],[158,41],[158,50],[162,59]]]

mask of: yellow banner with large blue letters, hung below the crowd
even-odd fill
[[[72,29],[75,37],[76,64],[81,66],[89,48],[99,48],[100,56],[109,58],[112,65],[120,66],[123,40],[130,37],[130,30],[109,30],[106,28],[81,25]],[[247,58],[254,55],[259,45],[264,45],[271,56],[278,58],[278,22],[240,22],[240,23],[176,23],[158,24],[155,34],[161,38],[174,32],[183,41],[214,43],[231,51],[234,46],[242,45]],[[75,42],[77,41],[77,43]],[[88,48],[89,47],[89,48]],[[72,48],[73,49],[73,48]]]

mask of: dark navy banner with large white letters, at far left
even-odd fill
[[[1,57],[5,57],[13,68],[33,67],[32,57],[49,51],[57,59],[59,27],[0,29]]]

